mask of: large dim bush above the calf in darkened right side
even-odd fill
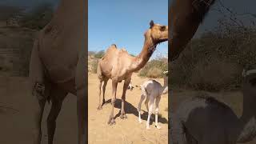
[[[242,68],[256,63],[256,27],[221,26],[193,39],[171,63],[171,85],[194,90],[241,86]]]

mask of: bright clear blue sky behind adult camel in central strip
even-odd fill
[[[111,44],[126,48],[130,54],[139,54],[144,32],[150,20],[168,25],[168,0],[89,0],[88,49],[106,50]],[[158,46],[153,57],[167,54],[167,42]]]

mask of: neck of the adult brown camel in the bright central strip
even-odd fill
[[[154,53],[155,49],[156,44],[154,44],[153,40],[151,38],[145,38],[142,51],[140,54],[138,54],[138,56],[134,58],[130,71],[137,71],[142,69],[142,67],[146,65],[146,62],[150,60],[150,57]]]

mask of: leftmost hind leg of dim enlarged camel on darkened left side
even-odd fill
[[[42,114],[46,104],[46,79],[44,78],[44,67],[38,54],[38,39],[34,41],[30,58],[30,94],[34,101],[33,111],[33,143],[40,144],[42,138],[41,122]]]

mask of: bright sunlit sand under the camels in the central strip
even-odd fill
[[[168,95],[162,95],[159,104],[160,113],[162,116],[158,118],[159,125],[162,126],[161,130],[154,127],[154,120],[150,125],[150,130],[146,130],[147,112],[142,113],[142,124],[138,123],[137,106],[140,99],[141,91],[136,88],[136,85],[141,85],[147,78],[139,78],[137,74],[133,74],[132,83],[134,90],[127,90],[126,93],[126,116],[127,119],[122,120],[117,117],[116,124],[109,126],[107,124],[110,117],[110,98],[111,98],[111,80],[106,86],[106,104],[102,110],[97,110],[98,106],[98,79],[96,74],[89,74],[88,82],[88,106],[89,106],[89,144],[166,144],[168,143]],[[163,84],[163,79],[158,79],[158,82]],[[122,83],[118,83],[117,102],[114,109],[114,115],[118,114],[121,109],[121,95]],[[144,102],[142,103],[142,111],[146,110]]]

